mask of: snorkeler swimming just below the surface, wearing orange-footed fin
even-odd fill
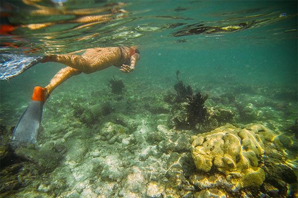
[[[46,87],[34,88],[32,99],[13,131],[12,140],[36,143],[43,104],[53,90],[67,79],[82,72],[89,74],[112,65],[119,67],[120,71],[124,73],[129,73],[135,69],[135,64],[139,58],[140,52],[136,47],[109,47],[83,49],[69,54],[46,55],[35,57],[34,60],[29,59],[30,63],[27,64],[29,66],[25,69],[38,62],[59,62],[67,65],[67,67],[58,71]],[[25,69],[13,74],[13,76],[18,75]],[[8,78],[10,76],[6,75],[6,79]]]

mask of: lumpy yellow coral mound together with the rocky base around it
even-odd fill
[[[277,167],[271,167],[271,172],[269,171],[269,167],[274,166],[274,161],[278,160],[272,153],[287,156],[279,152],[284,147],[277,137],[277,134],[260,124],[249,124],[242,129],[228,124],[214,131],[192,136],[192,158],[201,174],[193,174],[191,183],[207,191],[208,195],[211,194],[211,189],[222,189],[238,197],[240,189],[251,189],[250,194],[257,196],[260,188],[264,189],[269,185],[286,194],[287,188],[279,185],[280,181],[295,184],[297,177],[285,164],[279,166],[279,173],[274,170]],[[285,169],[282,170],[281,167]],[[291,176],[288,179],[282,178],[284,174]]]

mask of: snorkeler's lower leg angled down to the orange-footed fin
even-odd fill
[[[74,69],[72,67],[65,67],[62,68],[50,81],[50,83],[45,87],[46,89],[46,99],[49,97],[49,95],[53,92],[53,90],[58,87],[61,83],[66,81],[72,76],[80,74],[81,71]]]

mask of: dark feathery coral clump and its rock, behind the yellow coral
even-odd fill
[[[167,94],[164,101],[172,106],[171,121],[177,129],[198,130],[203,133],[226,123],[234,123],[234,112],[228,108],[214,106],[215,103],[208,108],[206,105],[208,94],[206,96],[200,92],[194,94],[192,88],[186,87],[179,79],[179,70],[176,72],[176,78],[178,80],[174,85],[176,95]],[[235,100],[235,96],[231,93],[224,96],[225,102]]]

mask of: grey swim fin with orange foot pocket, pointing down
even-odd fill
[[[40,122],[42,117],[43,105],[45,102],[45,88],[35,87],[32,99],[20,117],[13,130],[11,140],[17,142],[36,143]]]

